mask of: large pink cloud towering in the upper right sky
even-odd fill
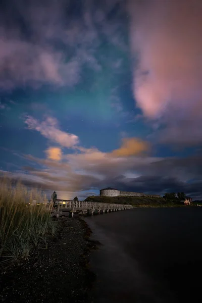
[[[129,8],[131,52],[138,57],[133,70],[137,106],[145,117],[166,125],[170,141],[173,128],[184,141],[202,140],[195,123],[202,116],[201,1],[136,1]],[[184,125],[190,134],[183,133]]]

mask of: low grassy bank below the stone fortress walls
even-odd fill
[[[163,197],[147,197],[147,196],[90,196],[86,198],[87,201],[114,203],[114,204],[128,204],[134,207],[179,207],[183,206],[176,200],[166,200]]]

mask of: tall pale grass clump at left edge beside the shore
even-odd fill
[[[36,200],[36,203],[33,203]],[[51,219],[46,196],[28,190],[7,179],[0,181],[0,257],[3,262],[28,258],[35,246],[46,247],[48,234],[54,235],[56,222]]]

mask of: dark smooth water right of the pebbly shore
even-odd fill
[[[95,302],[201,302],[202,209],[134,209],[85,218]]]

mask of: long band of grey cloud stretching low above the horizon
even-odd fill
[[[83,191],[93,192],[108,186],[150,194],[184,191],[192,197],[202,196],[202,157],[199,156],[112,160],[107,154],[92,150],[90,154],[69,155],[66,163],[28,158],[44,168],[25,167],[10,177],[46,190],[71,192],[72,197],[79,192],[86,197],[88,194]]]

